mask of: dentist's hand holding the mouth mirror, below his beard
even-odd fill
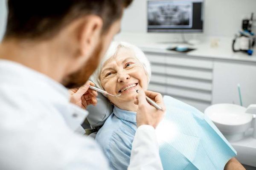
[[[70,102],[79,107],[86,109],[88,105],[96,105],[98,93],[92,89],[89,89],[89,85],[95,86],[91,81],[87,81],[80,88],[72,88],[69,90]]]

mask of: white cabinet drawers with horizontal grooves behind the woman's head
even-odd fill
[[[211,59],[195,59],[186,55],[145,52],[151,62],[149,90],[180,99],[204,111],[212,102]]]

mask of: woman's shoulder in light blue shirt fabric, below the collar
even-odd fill
[[[113,113],[96,135],[113,169],[127,169],[133,139],[133,130]]]

